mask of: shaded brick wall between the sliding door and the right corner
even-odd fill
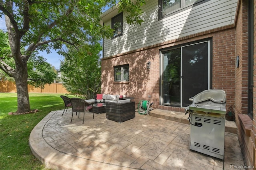
[[[226,91],[226,107],[235,102],[235,29],[214,34],[212,38],[212,88]]]

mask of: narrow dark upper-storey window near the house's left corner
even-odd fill
[[[112,18],[112,29],[114,30],[114,37],[121,36],[123,34],[123,13],[114,16]]]

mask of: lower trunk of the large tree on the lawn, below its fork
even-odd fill
[[[17,113],[25,113],[30,111],[28,96],[28,72],[27,67],[22,68],[16,64],[16,76],[14,77],[17,89],[18,110]]]

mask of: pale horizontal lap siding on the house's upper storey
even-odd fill
[[[148,0],[141,26],[128,25],[123,15],[123,35],[104,39],[104,57],[128,52],[191,34],[234,24],[237,0],[210,0],[158,21],[158,1]],[[104,24],[111,26],[111,18]]]

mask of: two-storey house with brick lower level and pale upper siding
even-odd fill
[[[128,25],[109,9],[102,22],[102,93],[154,102],[180,111],[206,89],[226,91],[234,108],[246,165],[256,167],[256,1],[148,0],[144,23]]]

